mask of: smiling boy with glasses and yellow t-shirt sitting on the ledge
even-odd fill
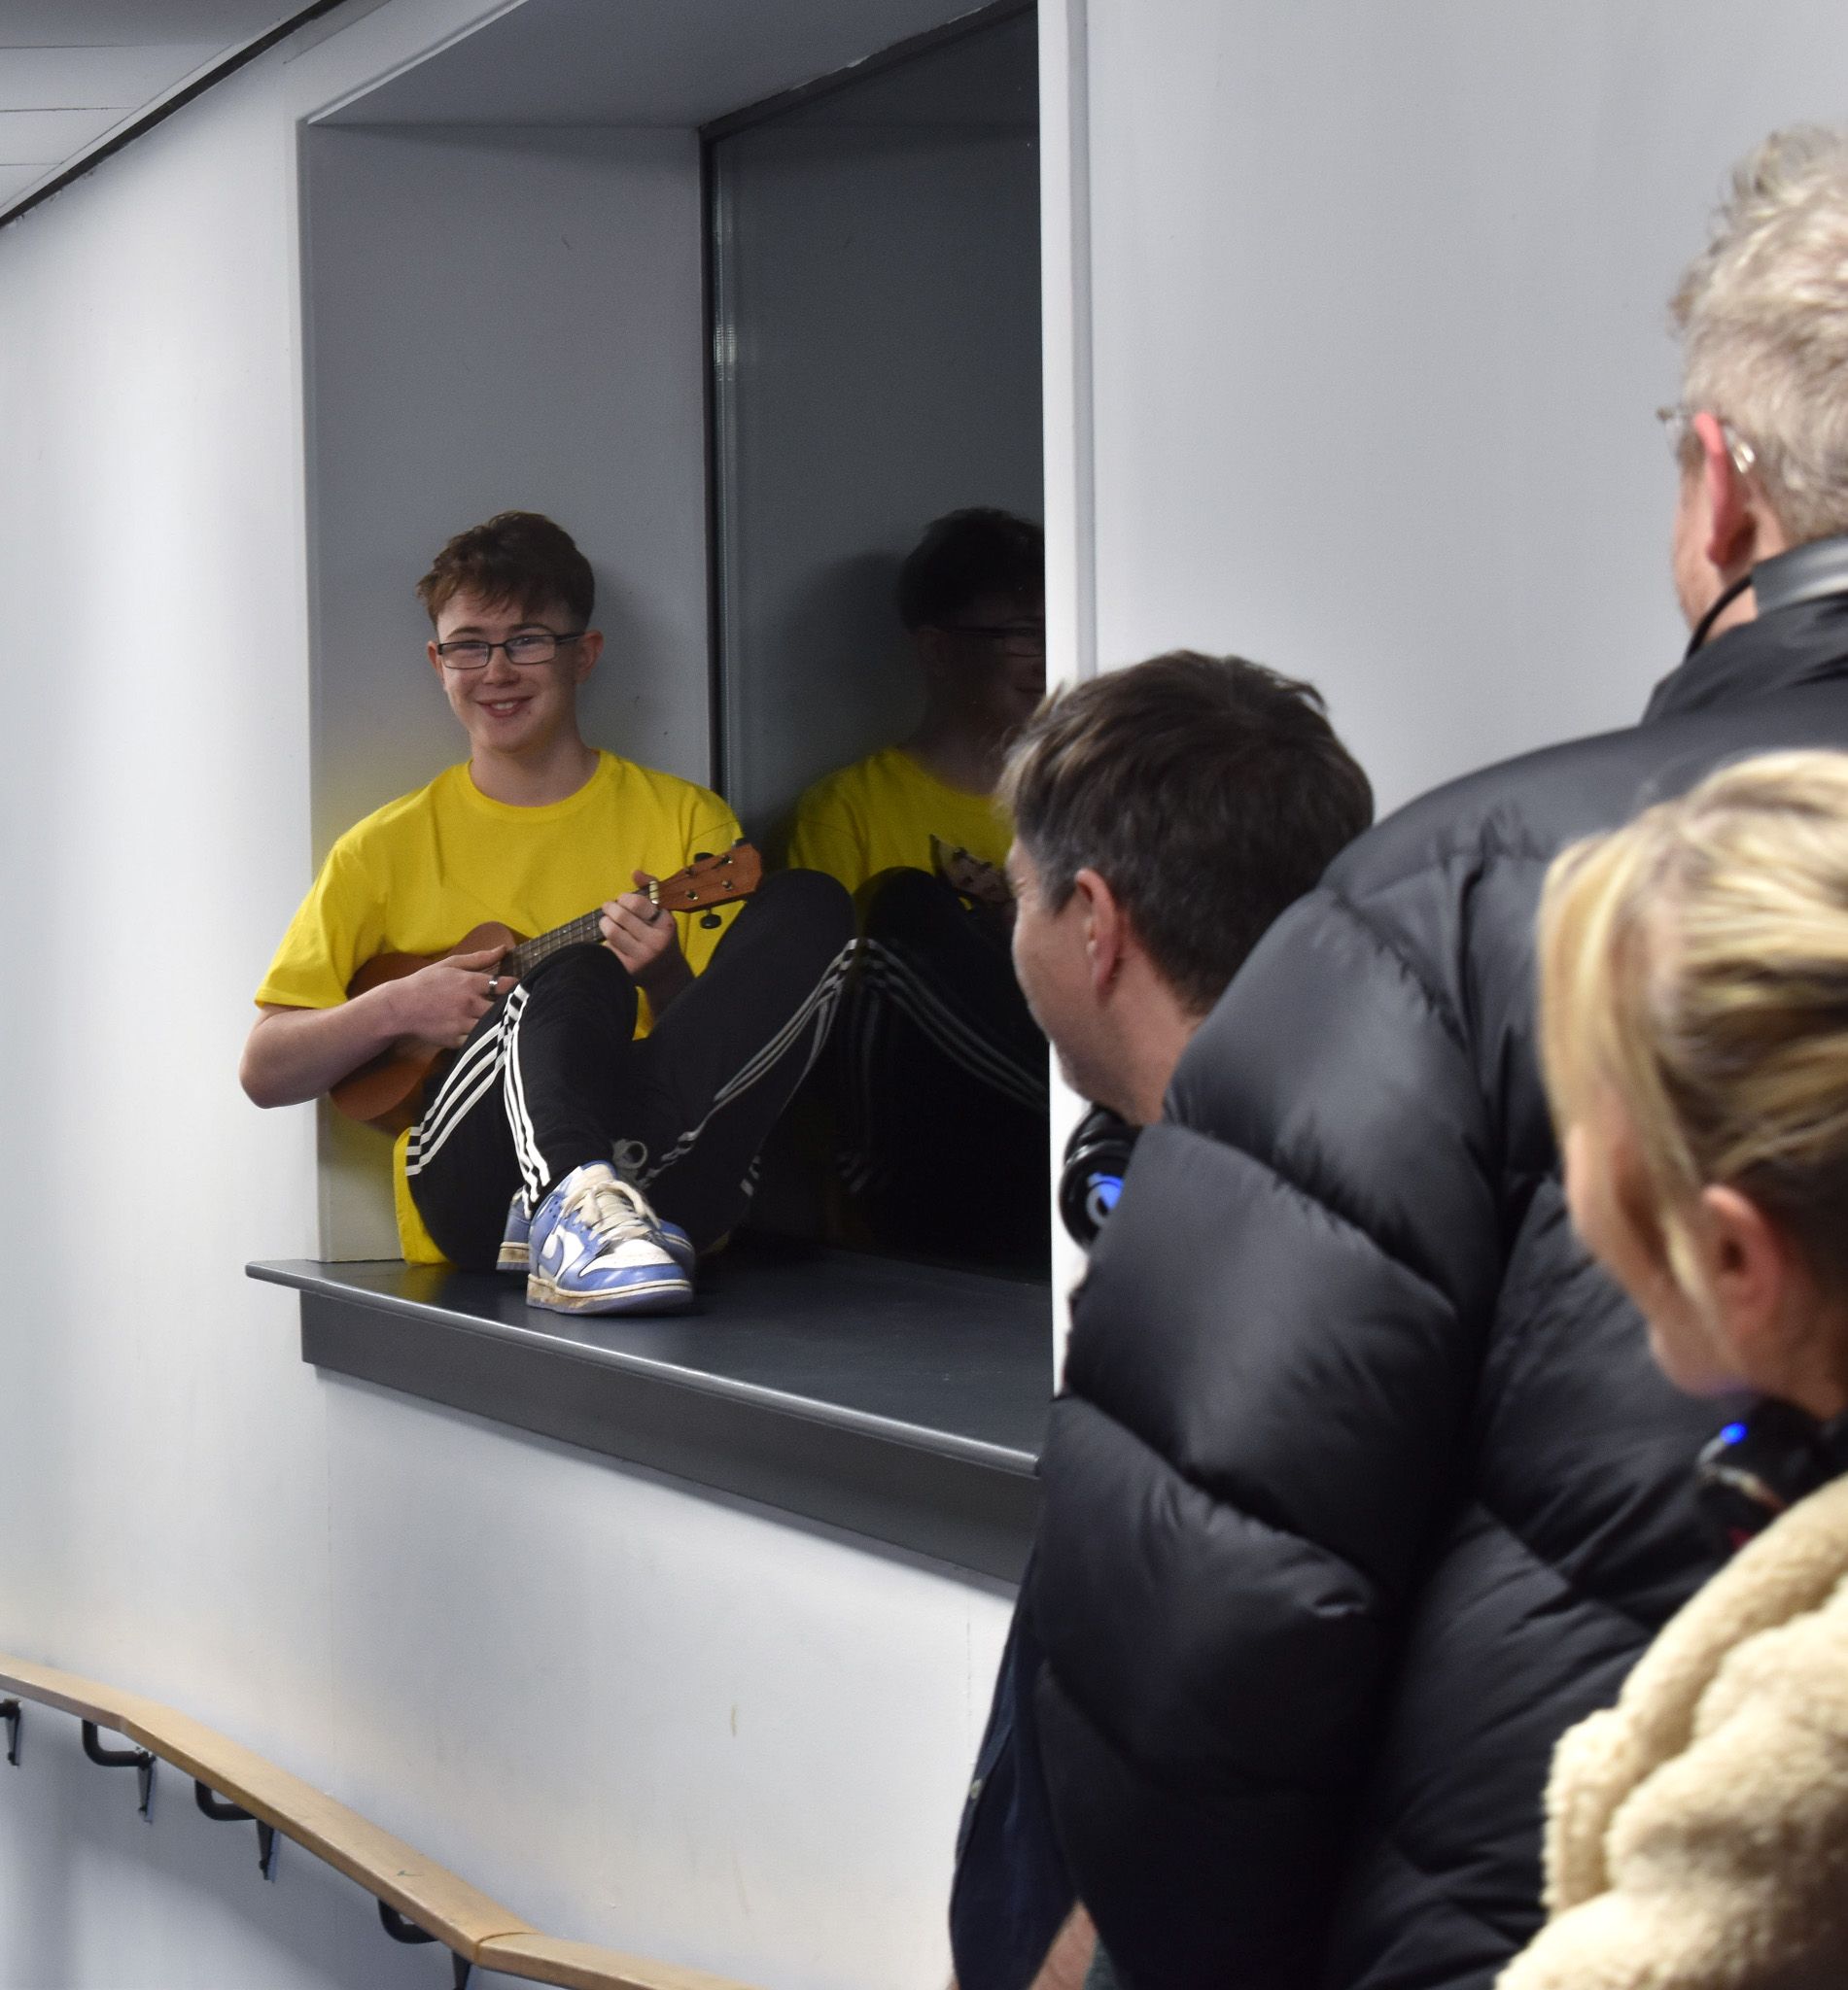
[[[257,1104],[315,1098],[392,1049],[440,1053],[398,1140],[412,1262],[500,1266],[554,1311],[659,1311],[745,1210],[755,1156],[814,1061],[850,907],[789,872],[721,913],[647,888],[739,826],[717,794],[585,744],[578,687],[603,647],[589,561],[552,519],[504,511],[418,583],[470,758],[329,852],[257,991]],[[611,896],[613,882],[635,890]],[[446,953],[486,921],[597,937],[502,967]],[[348,997],[378,953],[440,955]]]

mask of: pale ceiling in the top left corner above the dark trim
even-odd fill
[[[0,0],[0,217],[303,0]]]

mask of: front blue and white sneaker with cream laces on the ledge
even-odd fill
[[[647,1198],[607,1160],[574,1168],[546,1196],[526,1248],[526,1303],[552,1313],[677,1313],[693,1299]]]

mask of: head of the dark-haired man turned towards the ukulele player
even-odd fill
[[[1137,1126],[1270,921],[1372,822],[1312,687],[1197,651],[1061,693],[998,792],[1028,1005],[1065,1083]]]

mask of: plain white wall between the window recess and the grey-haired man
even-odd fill
[[[1065,14],[1101,661],[1189,643],[1318,681],[1384,806],[1635,718],[1685,639],[1651,420],[1677,388],[1667,295],[1731,161],[1848,109],[1848,16]]]

